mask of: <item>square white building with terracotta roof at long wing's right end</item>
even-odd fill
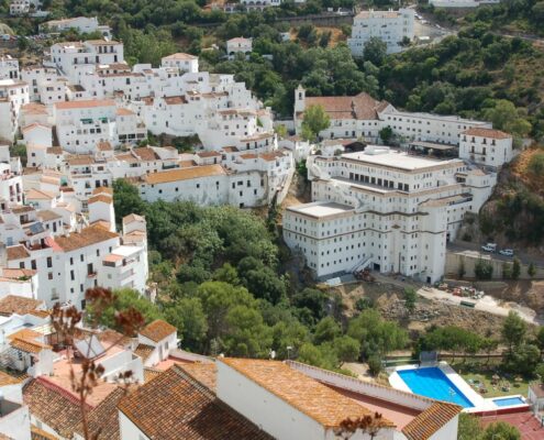
[[[500,130],[468,129],[460,134],[459,157],[479,165],[501,167],[513,157],[512,136]]]

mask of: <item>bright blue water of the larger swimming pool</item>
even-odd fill
[[[401,370],[397,374],[414,394],[437,400],[457,404],[463,408],[473,408],[473,403],[453,384],[442,370],[426,369]]]

